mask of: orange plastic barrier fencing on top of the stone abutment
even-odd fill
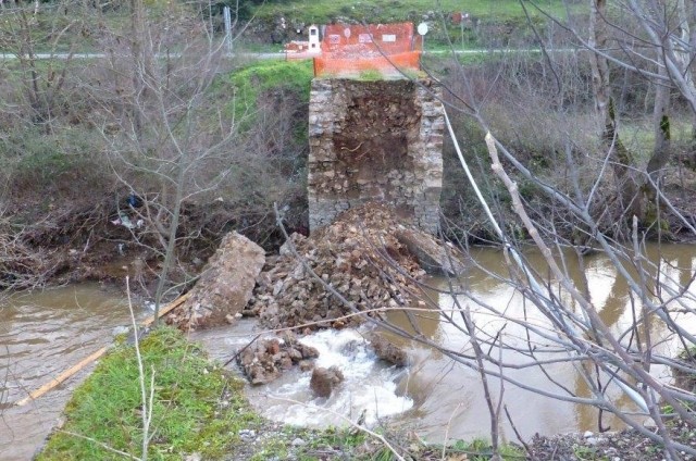
[[[398,75],[419,71],[422,37],[412,23],[326,26],[322,54],[314,58],[315,76],[359,76],[376,71]],[[398,67],[398,68],[397,68]]]

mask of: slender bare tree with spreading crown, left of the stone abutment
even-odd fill
[[[161,261],[157,314],[172,271],[183,267],[177,248],[192,237],[182,230],[182,208],[211,200],[235,167],[237,121],[234,111],[207,103],[226,66],[208,23],[174,2],[157,12],[142,1],[129,7],[128,28],[110,30],[100,43],[108,55],[103,83],[90,82],[85,90],[96,103],[112,170],[138,201],[124,207],[116,222]],[[182,282],[190,279],[185,274]]]

